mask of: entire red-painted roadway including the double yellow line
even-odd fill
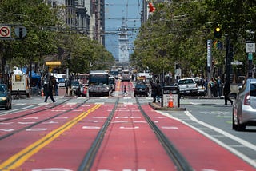
[[[63,97],[57,103],[1,114],[0,170],[82,170],[106,123],[92,165],[85,170],[177,170],[139,109],[133,87],[117,82],[112,97]],[[145,97],[138,101],[192,169],[255,170],[182,121],[158,113],[143,102]]]

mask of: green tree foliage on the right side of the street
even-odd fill
[[[159,3],[134,42],[133,63],[149,66],[158,74],[162,69],[174,73],[174,63],[178,63],[184,77],[198,76],[199,70],[206,71],[206,41],[214,41],[214,27],[218,25],[223,48],[213,48],[214,66],[224,66],[226,34],[234,45],[234,60],[246,63],[245,42],[256,41],[248,34],[248,30],[256,29],[255,6],[256,2],[250,0]],[[161,55],[159,50],[165,53]]]

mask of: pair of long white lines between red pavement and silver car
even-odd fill
[[[247,156],[244,155],[243,153],[240,153],[238,150],[236,150],[236,149],[230,147],[230,145],[224,144],[222,141],[219,141],[218,139],[212,137],[210,134],[208,134],[208,133],[206,133],[206,132],[204,132],[204,131],[202,131],[202,130],[196,128],[196,127],[194,127],[193,125],[190,125],[190,124],[186,123],[185,121],[182,121],[181,119],[178,119],[177,117],[171,116],[169,113],[164,113],[164,112],[162,112],[162,111],[156,111],[156,112],[161,113],[162,115],[164,115],[164,116],[166,116],[166,117],[170,117],[170,118],[172,118],[172,119],[174,119],[174,120],[176,120],[176,121],[179,121],[179,122],[181,122],[181,123],[183,123],[183,124],[185,124],[185,125],[188,125],[190,128],[192,128],[192,129],[198,131],[198,133],[201,133],[202,135],[208,137],[210,140],[216,142],[218,145],[221,145],[223,148],[230,150],[230,152],[232,152],[232,153],[234,153],[235,155],[237,155],[238,157],[242,158],[243,161],[246,161],[246,162],[248,162],[250,165],[253,165],[254,167],[256,167],[256,161],[250,159],[249,157],[247,157]],[[216,127],[214,127],[214,126],[212,126],[212,125],[209,125],[209,124],[207,124],[207,123],[205,123],[205,122],[203,122],[203,121],[199,121],[199,120],[198,120],[197,118],[195,118],[189,111],[185,111],[185,113],[186,113],[186,115],[187,115],[188,117],[190,117],[190,120],[195,121],[195,122],[197,122],[198,124],[203,125],[203,126],[206,126],[206,127],[210,128],[210,129],[213,129],[214,131],[216,131],[216,132],[218,132],[218,133],[221,133],[221,134],[224,135],[225,137],[229,137],[230,139],[232,139],[232,140],[234,140],[234,141],[237,141],[238,143],[240,143],[240,144],[242,144],[242,145],[245,145],[247,148],[250,148],[250,149],[256,151],[256,145],[253,145],[253,144],[251,144],[251,143],[248,142],[248,141],[242,140],[242,139],[239,138],[239,137],[235,137],[234,135],[232,135],[232,134],[230,134],[230,133],[227,133],[227,132],[223,131],[222,129],[218,129],[218,128],[216,128]]]

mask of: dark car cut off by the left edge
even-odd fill
[[[5,84],[0,84],[0,107],[11,109],[11,94]]]

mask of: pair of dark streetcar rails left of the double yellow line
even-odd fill
[[[69,100],[66,100],[66,101],[69,101]],[[59,105],[65,103],[66,101],[63,101],[63,102],[60,103]],[[86,101],[88,101],[88,99],[86,99]],[[77,105],[75,108],[68,109],[68,110],[66,110],[66,111],[64,111],[64,112],[62,112],[62,113],[58,113],[58,114],[56,114],[56,115],[54,115],[54,116],[52,116],[52,117],[48,117],[48,118],[43,119],[43,120],[41,120],[41,121],[35,122],[35,123],[31,124],[31,125],[22,127],[21,129],[17,129],[17,130],[14,130],[14,131],[10,132],[10,133],[6,133],[5,135],[0,136],[0,140],[3,140],[3,139],[5,139],[5,138],[7,138],[7,137],[10,137],[10,136],[12,136],[12,135],[14,135],[14,134],[16,134],[16,133],[20,133],[20,132],[22,132],[22,131],[24,131],[24,130],[26,130],[26,129],[30,129],[30,128],[32,128],[32,127],[34,127],[34,126],[36,126],[36,125],[39,125],[39,124],[41,124],[41,123],[43,123],[43,122],[45,122],[45,121],[49,121],[49,120],[51,120],[51,119],[54,119],[55,117],[62,116],[63,114],[66,114],[66,113],[69,113],[69,112],[73,111],[74,109],[78,109],[80,106],[84,105],[84,104],[86,103],[86,101],[83,101],[81,104]],[[50,108],[47,108],[47,109],[53,109],[53,108],[56,107],[56,106],[58,106],[58,105],[51,106]],[[34,114],[34,113],[46,111],[47,109],[38,110],[38,111],[35,111],[35,112],[33,112],[33,113],[26,113],[26,114],[23,114],[23,115],[21,115],[21,116],[8,118],[8,119],[2,120],[2,121],[10,121],[10,120],[17,119],[17,118],[21,118],[21,117],[26,117],[26,116],[31,115],[31,114]],[[2,121],[1,121],[1,122],[2,122]]]

